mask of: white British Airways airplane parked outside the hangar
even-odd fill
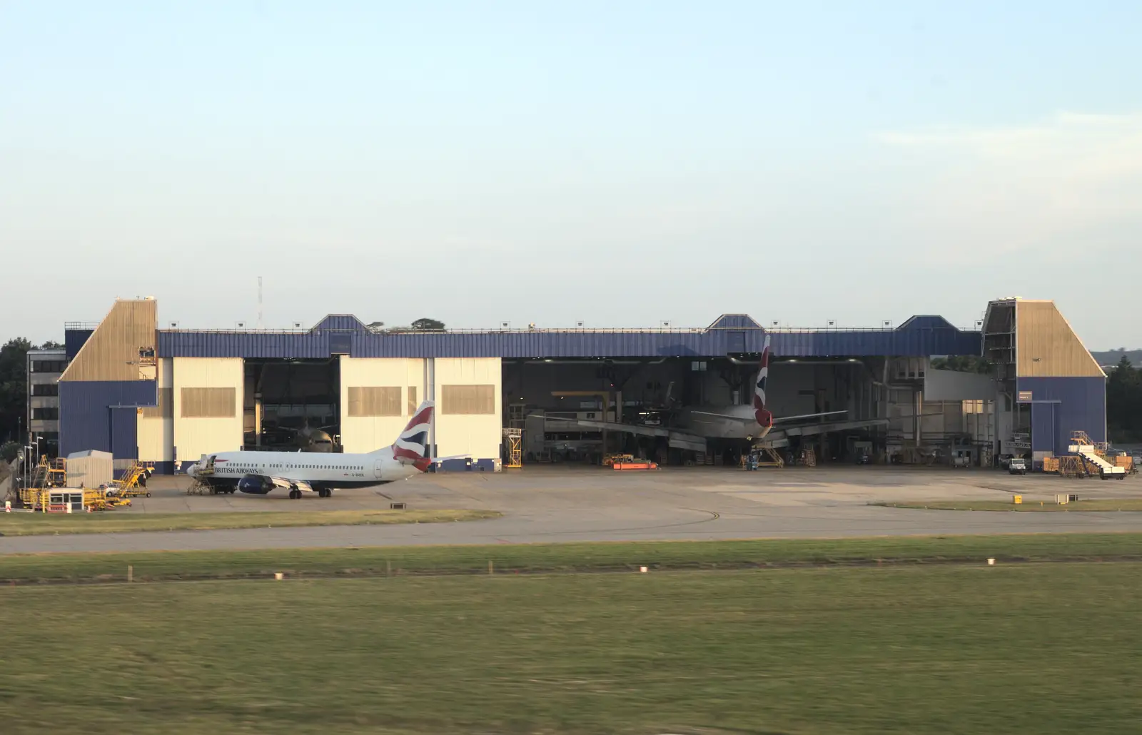
[[[307,492],[329,498],[333,488],[383,485],[423,472],[441,459],[452,459],[429,457],[432,421],[433,402],[425,401],[392,445],[368,454],[219,452],[203,454],[186,474],[231,494],[265,495],[282,488],[295,500]]]

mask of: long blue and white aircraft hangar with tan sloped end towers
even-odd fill
[[[368,452],[432,398],[434,455],[472,458],[441,469],[498,469],[513,434],[524,462],[625,451],[722,463],[748,437],[682,430],[670,417],[749,404],[766,336],[773,413],[828,414],[779,423],[774,447],[989,465],[1064,453],[1072,430],[1105,439],[1105,375],[1051,301],[992,301],[974,330],[940,316],[789,329],[729,314],[701,329],[413,331],[335,314],[271,331],[160,329],[146,298],[65,324],[59,452],[107,451],[118,468],[160,472],[242,449]],[[934,369],[941,356],[992,366]]]

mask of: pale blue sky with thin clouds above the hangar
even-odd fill
[[[0,340],[972,326],[1142,346],[1142,5],[0,0]]]

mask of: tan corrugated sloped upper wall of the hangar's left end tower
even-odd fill
[[[115,301],[59,380],[138,380],[139,349],[155,347],[156,315],[153,299]]]

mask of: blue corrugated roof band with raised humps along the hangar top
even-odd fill
[[[774,355],[787,357],[979,355],[980,332],[941,316],[914,316],[894,329],[770,330]],[[745,314],[705,329],[372,331],[333,314],[297,331],[160,330],[160,357],[715,357],[759,353],[766,330]]]

